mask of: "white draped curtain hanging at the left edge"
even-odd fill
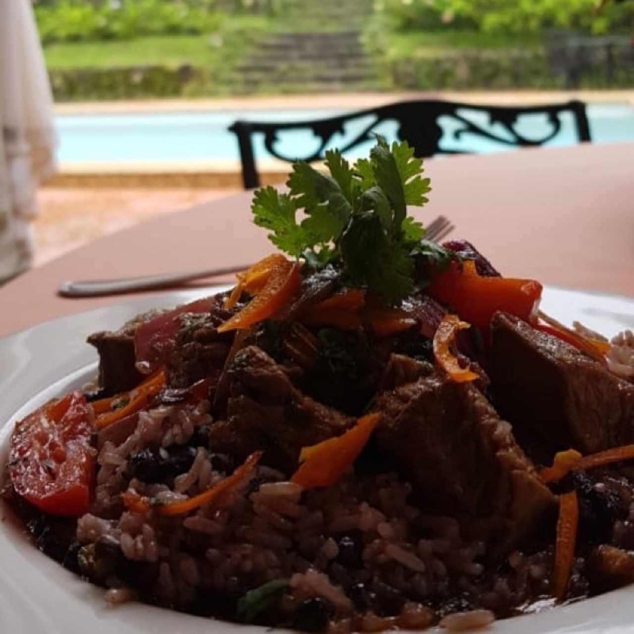
[[[30,0],[0,0],[0,283],[29,268],[36,192],[55,169],[53,105]]]

